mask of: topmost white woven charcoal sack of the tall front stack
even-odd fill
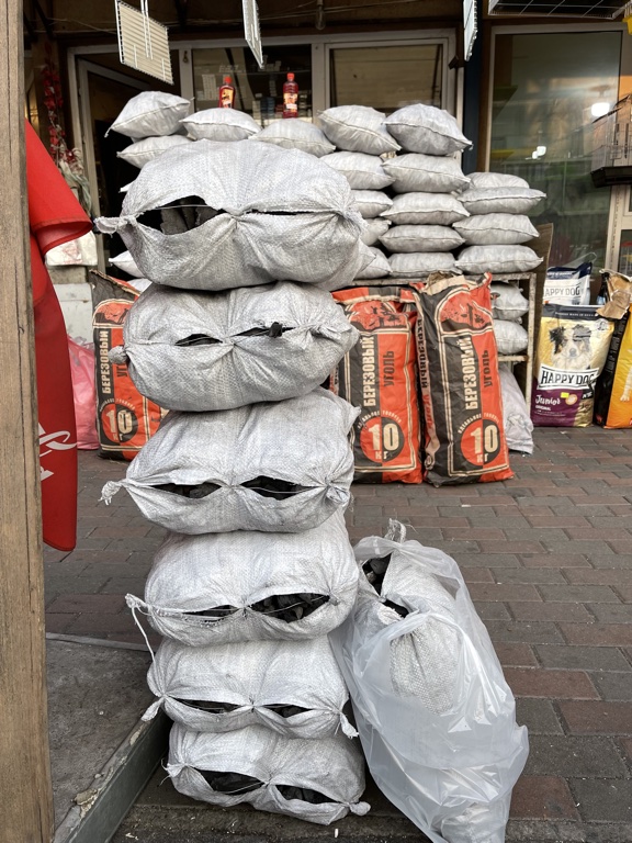
[[[362,266],[363,222],[346,179],[272,144],[198,140],[165,153],[143,168],[121,216],[98,225],[121,235],[145,277],[189,290],[334,289]]]

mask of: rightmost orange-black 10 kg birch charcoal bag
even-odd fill
[[[426,420],[426,480],[436,486],[514,476],[503,425],[492,276],[415,282]]]

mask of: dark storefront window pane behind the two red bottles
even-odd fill
[[[224,77],[229,76],[235,88],[234,106],[261,125],[268,125],[282,116],[283,82],[287,72],[293,72],[298,83],[298,116],[312,119],[312,47],[308,44],[266,47],[262,70],[248,47],[192,53],[196,111],[218,106],[219,87]]]

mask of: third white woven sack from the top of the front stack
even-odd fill
[[[347,435],[358,412],[319,387],[237,409],[168,413],[126,477],[103,486],[102,499],[126,488],[148,520],[177,532],[308,530],[349,503]],[[280,499],[267,479],[289,487]],[[205,496],[185,496],[191,487]]]

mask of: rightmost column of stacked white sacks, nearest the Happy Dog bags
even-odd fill
[[[538,237],[527,216],[544,193],[524,179],[499,172],[474,172],[461,201],[470,216],[454,228],[464,239],[456,268],[464,274],[492,272],[511,276],[530,272],[542,262],[526,244]],[[520,355],[529,337],[520,324],[529,303],[511,283],[494,283],[494,333],[500,355]]]

